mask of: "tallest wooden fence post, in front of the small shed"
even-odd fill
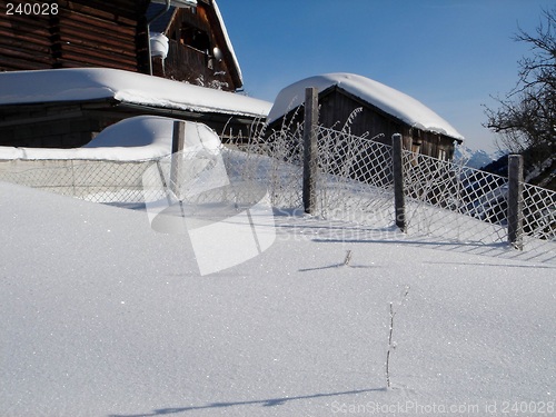
[[[318,91],[314,87],[305,90],[304,125],[304,209],[314,214],[317,206],[317,126]]]

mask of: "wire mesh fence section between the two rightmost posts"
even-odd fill
[[[403,152],[409,232],[467,242],[507,240],[507,178]]]

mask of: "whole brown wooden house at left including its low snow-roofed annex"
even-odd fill
[[[241,70],[216,0],[57,0],[33,16],[7,4],[0,146],[79,147],[140,115],[238,133],[268,115],[234,92]]]

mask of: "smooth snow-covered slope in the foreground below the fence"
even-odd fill
[[[280,215],[200,277],[143,211],[0,183],[0,216],[2,417],[555,413],[550,265]]]

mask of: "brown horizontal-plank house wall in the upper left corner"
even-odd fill
[[[0,71],[145,68],[146,0],[57,0],[57,12],[44,16],[6,14],[8,2],[0,0]]]

